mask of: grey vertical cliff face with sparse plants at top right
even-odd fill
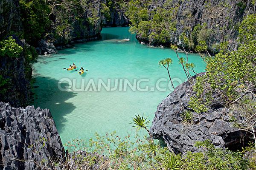
[[[244,16],[256,11],[252,0],[152,0],[148,8],[149,11],[155,11],[158,7],[168,9],[177,7],[176,18],[173,21],[175,31],[170,33],[166,45],[170,43],[180,45],[181,33],[185,32],[189,35],[195,26],[205,24],[207,31],[201,32],[201,36],[207,36],[205,41],[211,51],[214,51],[212,45],[223,41],[229,41],[233,47],[236,47],[239,24]],[[154,30],[149,29],[149,32],[152,31]],[[150,45],[161,44],[140,34],[137,34],[137,39]]]

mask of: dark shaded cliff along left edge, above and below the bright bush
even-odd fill
[[[23,28],[18,7],[18,0],[0,1],[0,40],[5,38],[11,31],[16,33],[22,31]],[[15,40],[19,45],[24,47],[24,42],[21,42],[17,37],[15,37]],[[24,51],[18,58],[1,56],[0,75],[3,79],[7,79],[11,85],[10,87],[5,87],[8,88],[7,92],[0,93],[0,101],[10,102],[13,106],[26,105],[30,96],[31,74],[32,69],[25,59]]]

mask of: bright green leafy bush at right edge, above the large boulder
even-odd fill
[[[256,26],[254,16],[254,14],[249,15],[241,23],[239,37],[244,42],[241,42],[236,51],[230,51],[227,42],[223,42],[219,45],[220,52],[215,57],[207,58],[207,74],[197,78],[194,86],[197,94],[191,97],[189,102],[193,110],[206,111],[204,106],[209,105],[207,96],[211,94],[217,94],[225,105],[229,105],[240,99],[241,92],[254,91],[256,85],[256,29],[252,28]],[[200,42],[197,47],[198,51],[207,49],[204,42]]]

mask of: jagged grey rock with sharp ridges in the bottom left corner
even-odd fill
[[[53,169],[64,147],[48,109],[12,108],[0,102],[0,169]]]

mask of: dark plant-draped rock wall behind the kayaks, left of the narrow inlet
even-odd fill
[[[99,38],[100,32],[102,31],[101,1],[88,0],[86,4],[84,6],[84,4],[80,3],[72,7],[74,11],[76,11],[76,8],[81,7],[82,11],[71,12],[70,15],[73,16],[73,20],[70,21],[69,31],[66,30],[67,33],[65,34],[68,34],[67,37],[53,34],[53,37],[48,38],[58,49],[70,47],[70,43],[86,42]],[[54,21],[56,26],[58,22],[58,20]]]

